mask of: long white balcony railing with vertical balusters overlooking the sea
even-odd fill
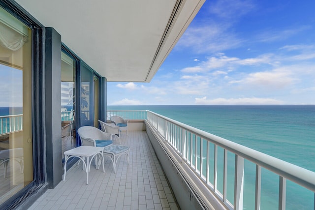
[[[136,116],[134,113],[136,111],[132,112]],[[142,116],[143,111],[140,112],[140,116]],[[127,113],[129,111],[108,111],[107,116],[117,114],[126,117],[128,116]],[[205,187],[221,200],[221,203],[227,209],[243,209],[244,182],[246,182],[244,180],[244,171],[249,165],[248,162],[254,166],[254,176],[252,176],[254,179],[252,194],[254,195],[251,197],[255,210],[260,210],[261,208],[261,189],[266,187],[264,182],[262,182],[262,169],[267,170],[273,176],[279,177],[277,209],[286,209],[286,180],[290,180],[309,191],[312,194],[310,203],[311,205],[315,204],[315,172],[151,111],[147,111],[147,121],[155,127],[163,137],[164,142],[180,157],[181,161],[178,164],[186,164],[196,175],[193,179],[198,179],[198,183],[202,182]],[[219,171],[223,171],[222,177],[218,176]],[[231,177],[233,178],[232,181],[229,179]],[[219,182],[222,182],[222,187],[218,187]],[[229,200],[228,198],[230,197],[232,199]],[[246,199],[249,198],[247,197]],[[313,206],[312,209],[315,209],[315,207]]]

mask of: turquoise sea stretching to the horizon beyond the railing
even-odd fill
[[[315,105],[108,106],[108,110],[150,110],[315,172]],[[234,155],[228,154],[228,171],[234,171],[233,161]],[[255,165],[246,161],[244,209],[253,209],[254,170]],[[233,174],[228,177],[228,192],[233,192],[234,173],[228,174]],[[221,167],[219,190],[222,175]],[[279,177],[263,169],[262,210],[278,209],[278,186]],[[233,196],[228,194],[228,200]],[[314,193],[287,181],[286,209],[314,209]]]

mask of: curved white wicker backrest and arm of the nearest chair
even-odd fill
[[[81,145],[96,147],[95,140],[112,140],[112,134],[107,134],[93,126],[82,126],[78,129]]]

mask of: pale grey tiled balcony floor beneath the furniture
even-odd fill
[[[105,173],[91,166],[88,185],[82,163],[74,165],[65,181],[48,189],[29,210],[179,209],[147,133],[123,132],[121,141],[130,147],[129,165],[122,155],[115,174],[111,160],[104,157]]]

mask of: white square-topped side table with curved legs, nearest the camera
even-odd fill
[[[92,147],[92,146],[80,146],[77,148],[74,148],[72,150],[67,150],[65,152],[63,152],[63,154],[65,155],[64,157],[64,174],[63,174],[63,181],[65,180],[65,174],[67,171],[67,161],[71,158],[71,157],[78,157],[82,160],[83,162],[83,169],[85,169],[86,173],[87,173],[87,184],[89,184],[89,172],[90,172],[90,167],[91,167],[91,163],[93,158],[95,157],[95,155],[100,154],[102,157],[102,164],[103,164],[103,172],[105,173],[105,169],[104,169],[104,156],[103,156],[103,148],[102,147]],[[89,158],[92,156],[91,160],[89,160]],[[87,157],[87,162],[85,162],[85,158]],[[97,159],[96,159],[96,169],[97,168]]]

